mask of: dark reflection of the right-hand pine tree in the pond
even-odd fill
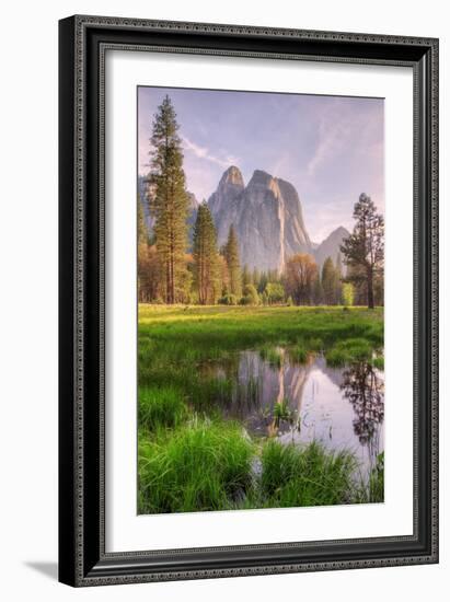
[[[379,452],[379,425],[384,418],[384,381],[370,363],[360,361],[344,370],[341,389],[356,415],[355,435],[374,459]]]

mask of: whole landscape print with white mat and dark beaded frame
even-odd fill
[[[438,40],[59,35],[60,581],[438,562]]]

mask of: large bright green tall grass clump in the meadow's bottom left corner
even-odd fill
[[[233,422],[194,419],[139,445],[139,512],[231,508],[251,487],[253,444]]]

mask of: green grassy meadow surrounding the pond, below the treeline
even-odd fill
[[[349,450],[255,438],[222,412],[233,378],[208,369],[245,349],[280,367],[280,348],[382,369],[382,309],[141,304],[138,328],[139,513],[382,501],[381,454],[362,478]],[[274,428],[285,414],[275,404]]]

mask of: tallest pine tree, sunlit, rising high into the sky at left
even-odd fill
[[[185,286],[189,201],[176,113],[169,96],[158,107],[151,136],[150,210],[166,303]]]

